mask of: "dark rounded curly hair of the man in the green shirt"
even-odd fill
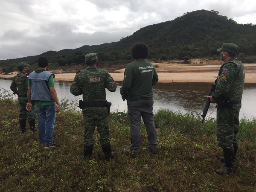
[[[146,59],[148,55],[149,49],[144,43],[134,43],[131,47],[131,56],[134,59]]]

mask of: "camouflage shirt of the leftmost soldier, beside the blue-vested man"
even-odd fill
[[[20,72],[13,77],[10,89],[13,94],[18,95],[20,102],[27,102],[28,80],[29,74],[25,72]]]

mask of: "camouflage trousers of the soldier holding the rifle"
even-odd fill
[[[239,132],[239,111],[241,103],[233,109],[217,109],[217,141],[221,148],[233,148]]]

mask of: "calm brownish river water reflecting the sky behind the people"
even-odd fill
[[[10,90],[11,79],[1,79],[0,87]],[[58,94],[58,99],[76,99],[79,100],[82,96],[73,96],[70,93],[70,81],[55,81],[55,89]],[[116,92],[106,90],[107,100],[112,103],[111,111],[127,111],[126,101],[124,102],[120,96],[120,87],[118,84]],[[180,111],[186,113],[189,111],[198,111],[202,113],[207,95],[210,90],[210,83],[157,83],[154,88],[154,113],[160,108],[170,109],[172,111]],[[242,98],[242,107],[240,118],[256,118],[256,83],[245,84]],[[17,98],[17,97],[15,97]],[[211,104],[207,117],[215,117],[215,104]]]

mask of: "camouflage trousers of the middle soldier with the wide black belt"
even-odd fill
[[[109,126],[108,126],[108,108],[84,108],[84,145],[87,147],[94,145],[94,131],[97,127],[99,132],[99,141],[101,145],[110,142],[109,139]]]

